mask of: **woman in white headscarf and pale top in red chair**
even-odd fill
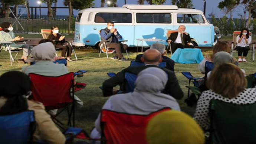
[[[45,42],[33,48],[33,58],[29,58],[26,62],[36,63],[30,66],[23,66],[22,72],[36,73],[44,76],[61,76],[69,73],[68,68],[64,64],[54,64],[55,48],[52,42]],[[83,105],[83,102],[75,95],[76,104],[78,107]],[[55,115],[57,110],[50,110],[49,113]]]

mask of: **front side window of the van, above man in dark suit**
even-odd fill
[[[205,20],[201,14],[177,14],[177,23],[202,24]]]

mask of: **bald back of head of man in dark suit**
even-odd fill
[[[147,49],[143,56],[141,57],[141,61],[145,64],[155,64],[158,65],[159,62],[162,62],[161,53],[157,49]]]

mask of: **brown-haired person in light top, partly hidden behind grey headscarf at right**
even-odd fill
[[[231,49],[229,47],[229,44],[227,44],[227,42],[221,41],[217,42],[217,44],[213,46],[213,54],[211,54],[210,56],[206,55],[205,58],[198,64],[198,69],[201,73],[205,73],[205,62],[212,62],[214,54],[216,54],[219,51],[225,51],[230,53]]]

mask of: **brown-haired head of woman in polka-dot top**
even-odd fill
[[[236,65],[223,63],[214,66],[207,86],[223,97],[234,98],[246,88],[247,80]]]

